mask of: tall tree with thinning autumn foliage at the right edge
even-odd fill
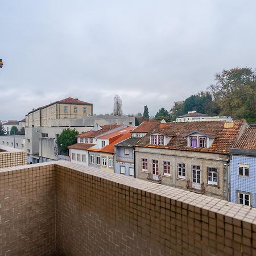
[[[251,68],[232,68],[215,75],[210,92],[221,115],[255,117],[256,74]]]

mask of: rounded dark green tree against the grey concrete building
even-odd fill
[[[79,132],[75,129],[64,129],[62,133],[57,137],[57,145],[60,151],[67,153],[68,146],[76,143],[76,135]]]

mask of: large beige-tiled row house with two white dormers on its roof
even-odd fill
[[[228,199],[230,148],[246,121],[162,121],[135,146],[136,177]]]

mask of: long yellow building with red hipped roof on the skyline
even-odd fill
[[[93,104],[69,97],[33,109],[26,115],[26,127],[47,127],[51,119],[82,118],[87,115],[93,115]]]

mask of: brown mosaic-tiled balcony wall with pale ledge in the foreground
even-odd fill
[[[1,170],[1,255],[256,255],[256,209],[67,162]]]

